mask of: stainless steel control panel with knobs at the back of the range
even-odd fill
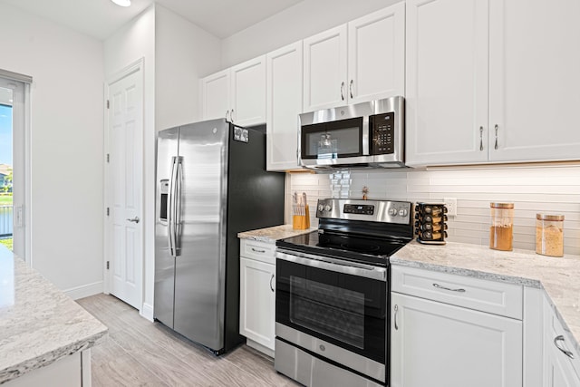
[[[361,200],[352,198],[318,199],[316,218],[368,220],[372,222],[411,224],[411,202]]]

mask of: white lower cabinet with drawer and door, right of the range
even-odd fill
[[[522,286],[513,285],[520,296],[510,298],[507,284],[391,268],[391,387],[523,386],[521,317],[489,313],[482,302],[504,298],[521,310]],[[397,275],[407,270],[411,276]],[[396,292],[403,288],[421,296]]]

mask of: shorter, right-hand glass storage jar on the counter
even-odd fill
[[[564,215],[536,214],[536,254],[564,256]]]

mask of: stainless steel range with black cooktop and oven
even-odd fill
[[[307,386],[389,381],[389,256],[411,202],[318,200],[317,231],[276,242],[275,370]]]

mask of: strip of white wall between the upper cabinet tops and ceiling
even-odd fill
[[[303,0],[224,39],[222,41],[222,69],[400,1]]]

